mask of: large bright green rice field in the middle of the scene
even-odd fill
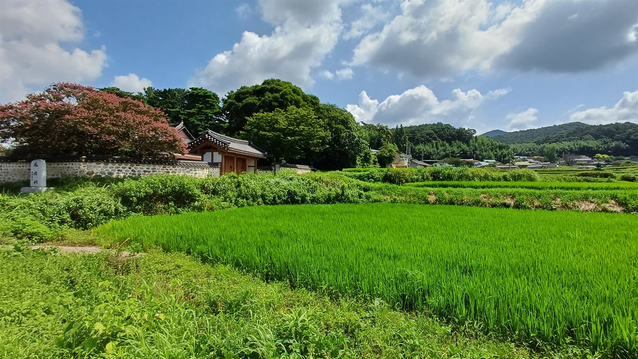
[[[135,217],[100,234],[529,343],[638,355],[638,216],[410,204]]]

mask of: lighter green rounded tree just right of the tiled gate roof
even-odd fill
[[[325,149],[330,132],[314,111],[290,106],[249,117],[244,137],[276,162],[304,161]]]

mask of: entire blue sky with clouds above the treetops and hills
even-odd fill
[[[0,1],[0,103],[291,81],[367,123],[638,123],[638,1]]]

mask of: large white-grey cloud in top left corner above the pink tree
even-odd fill
[[[0,103],[57,81],[101,76],[105,47],[87,52],[61,43],[84,38],[82,13],[68,1],[0,2]]]

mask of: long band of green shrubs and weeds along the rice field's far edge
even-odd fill
[[[633,174],[626,174],[634,176]],[[563,175],[559,175],[563,176]],[[589,177],[565,177],[588,180]],[[350,169],[345,172],[226,174],[220,178],[156,175],[139,179],[59,180],[56,192],[0,195],[0,237],[41,242],[67,240],[66,229],[91,229],[135,214],[213,211],[244,206],[335,203],[429,203],[588,211],[638,211],[638,192],[630,183],[530,184],[529,170],[484,168]],[[609,179],[591,178],[605,181]],[[475,185],[399,187],[423,181],[478,181]],[[485,184],[480,181],[494,181]],[[500,181],[512,184],[504,185]],[[103,186],[103,187],[101,187]],[[454,188],[459,187],[459,188]],[[468,188],[461,188],[468,187]],[[568,190],[580,187],[596,191]],[[476,188],[476,189],[473,189]],[[493,188],[493,189],[489,189]],[[535,189],[531,189],[535,188]],[[567,189],[567,190],[562,190]]]

